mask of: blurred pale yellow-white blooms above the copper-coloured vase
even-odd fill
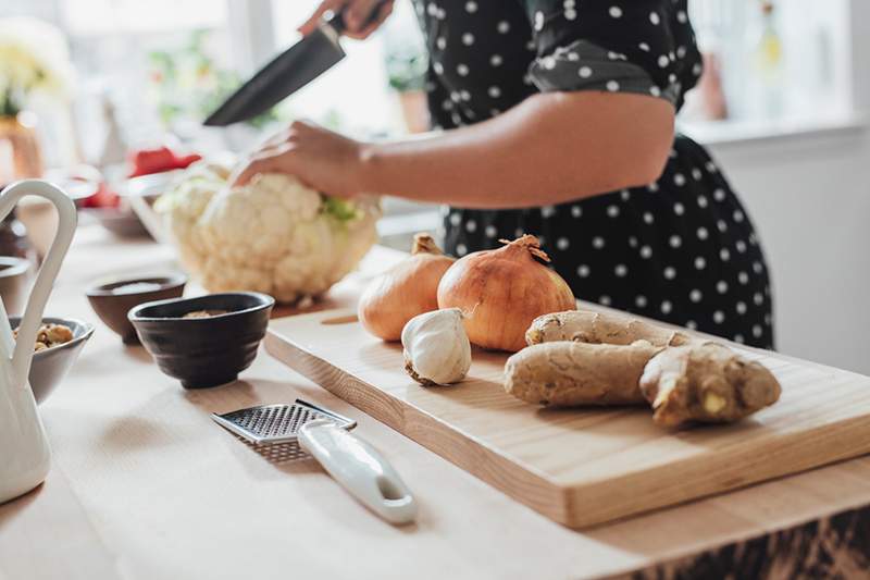
[[[73,70],[63,33],[44,21],[0,18],[0,94],[32,90],[63,98]]]

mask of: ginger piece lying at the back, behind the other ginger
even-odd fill
[[[584,310],[544,314],[525,333],[530,345],[558,341],[617,345],[646,341],[652,346],[678,346],[692,342],[692,337],[643,320]]]

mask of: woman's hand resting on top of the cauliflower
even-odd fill
[[[364,145],[313,123],[295,121],[254,152],[233,182],[244,185],[258,173],[286,173],[323,194],[353,197],[363,190]]]

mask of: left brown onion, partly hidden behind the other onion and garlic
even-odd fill
[[[428,234],[417,234],[411,256],[365,288],[357,309],[363,328],[385,341],[398,341],[405,324],[438,309],[438,282],[453,263]]]

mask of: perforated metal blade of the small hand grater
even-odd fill
[[[212,414],[211,418],[254,445],[293,443],[299,428],[314,419],[328,419],[345,430],[357,427],[357,421],[300,398],[293,405],[259,405],[224,415]]]

